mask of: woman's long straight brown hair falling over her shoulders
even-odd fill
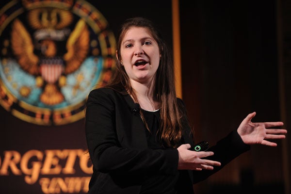
[[[146,28],[153,38],[157,41],[161,53],[160,64],[155,75],[154,97],[160,102],[161,106],[161,138],[167,146],[178,145],[182,136],[181,127],[181,110],[178,108],[175,82],[174,82],[174,67],[171,51],[168,49],[166,42],[162,38],[161,32],[155,27],[155,24],[144,17],[134,17],[127,19],[121,26],[116,51],[116,69],[113,77],[107,87],[120,88],[125,87],[126,91],[138,102],[136,94],[131,87],[129,77],[120,64],[118,59],[121,59],[120,48],[123,38],[131,27]],[[141,113],[142,115],[142,113]],[[145,119],[142,115],[142,119]],[[147,127],[147,125],[146,125]],[[148,128],[147,128],[148,129]]]

